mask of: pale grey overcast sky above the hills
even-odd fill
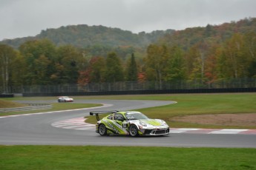
[[[256,17],[256,0],[0,0],[0,41],[88,24],[133,33]]]

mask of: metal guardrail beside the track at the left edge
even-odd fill
[[[13,108],[4,108],[0,109],[1,112],[21,112],[21,111],[30,111],[30,110],[40,110],[40,109],[51,109],[52,106],[50,104],[29,104],[30,106],[24,107],[13,107]]]

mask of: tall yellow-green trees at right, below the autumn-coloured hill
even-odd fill
[[[235,33],[221,44],[202,40],[186,51],[178,45],[150,45],[145,75],[159,84],[195,79],[211,84],[220,79],[256,78],[256,33]]]

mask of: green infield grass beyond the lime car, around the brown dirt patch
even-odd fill
[[[93,97],[96,98],[96,97]],[[106,98],[103,96],[102,98]],[[217,129],[256,129],[255,126],[217,126],[197,123],[184,123],[171,120],[182,115],[207,115],[207,114],[236,114],[256,113],[256,93],[229,93],[229,94],[188,94],[188,95],[123,95],[108,96],[110,99],[137,99],[177,101],[167,106],[138,109],[150,118],[165,120],[171,127],[186,128],[217,128]],[[96,123],[92,116],[88,123]]]

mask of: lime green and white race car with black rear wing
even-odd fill
[[[105,118],[100,120],[100,114],[106,114]],[[137,111],[102,111],[90,112],[90,115],[96,115],[96,133],[99,135],[168,135],[169,126],[164,120],[150,119]]]

